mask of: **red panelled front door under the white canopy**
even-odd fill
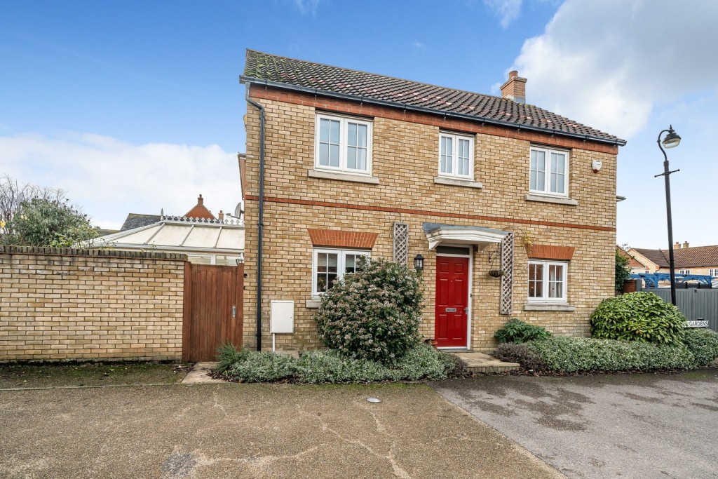
[[[434,335],[439,347],[467,347],[469,259],[437,256]]]

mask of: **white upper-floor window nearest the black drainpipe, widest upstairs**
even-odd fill
[[[371,174],[371,122],[317,113],[314,168]]]

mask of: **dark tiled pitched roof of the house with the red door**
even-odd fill
[[[623,139],[537,106],[255,50],[247,50],[241,81],[325,96],[342,96],[367,103],[384,103],[397,108],[449,113],[491,124],[521,126],[610,144],[625,144]]]

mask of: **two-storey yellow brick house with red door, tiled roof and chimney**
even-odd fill
[[[423,256],[439,347],[493,350],[510,317],[589,334],[613,295],[624,140],[524,103],[516,72],[498,98],[248,50],[241,83],[245,346],[271,347],[289,300],[277,348],[319,347],[320,297],[359,255]]]

